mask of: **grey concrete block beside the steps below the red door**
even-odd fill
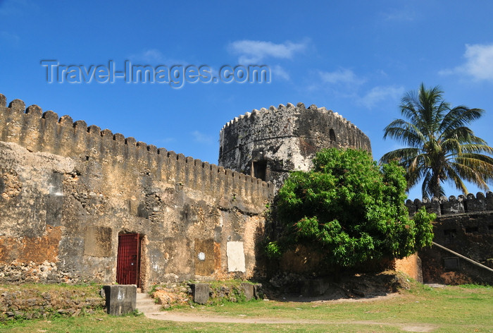
[[[106,296],[106,311],[109,315],[125,315],[135,310],[137,286],[135,284],[117,284],[103,286]]]

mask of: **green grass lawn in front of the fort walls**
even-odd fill
[[[493,332],[493,287],[413,286],[385,300],[250,301],[167,313],[231,320],[303,320],[305,324],[170,322],[144,316],[57,317],[0,325],[0,332]]]

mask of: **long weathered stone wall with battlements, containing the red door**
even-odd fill
[[[0,283],[248,278],[273,186],[0,95]]]

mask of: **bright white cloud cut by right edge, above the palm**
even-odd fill
[[[493,44],[466,44],[466,63],[439,71],[441,75],[468,75],[474,80],[493,81]]]

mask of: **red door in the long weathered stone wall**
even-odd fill
[[[137,284],[140,286],[140,237],[139,234],[118,236],[118,260],[116,262],[116,281],[118,284]]]

